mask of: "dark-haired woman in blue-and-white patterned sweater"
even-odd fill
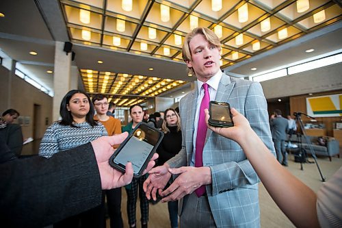
[[[40,156],[51,157],[60,151],[107,136],[105,127],[94,121],[94,106],[86,92],[70,90],[62,99],[60,116],[62,120],[45,131],[40,143]]]

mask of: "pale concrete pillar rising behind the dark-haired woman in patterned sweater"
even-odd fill
[[[64,42],[56,41],[55,45],[55,68],[53,75],[53,90],[55,91],[53,97],[53,121],[57,121],[60,118],[60,104],[71,88],[71,53],[66,55],[63,51]]]

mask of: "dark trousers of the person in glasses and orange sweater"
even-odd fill
[[[108,215],[111,228],[122,228],[121,216],[121,188],[106,190]]]

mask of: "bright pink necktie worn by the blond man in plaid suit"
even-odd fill
[[[205,89],[205,97],[202,98],[200,103],[200,115],[198,118],[198,128],[196,136],[196,156],[195,156],[195,167],[203,166],[202,154],[203,147],[205,147],[205,136],[207,135],[207,124],[205,123],[205,109],[209,107],[209,91],[208,84],[203,84],[202,87]],[[205,186],[195,190],[197,197],[201,197],[205,194]]]

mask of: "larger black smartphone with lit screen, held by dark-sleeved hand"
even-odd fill
[[[124,173],[127,162],[131,162],[133,177],[140,177],[163,136],[163,132],[155,127],[150,127],[144,122],[138,123],[111,155],[109,164]]]

